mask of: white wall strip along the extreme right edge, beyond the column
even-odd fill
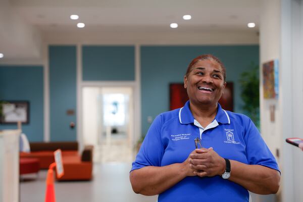
[[[303,138],[303,2],[292,1],[291,5],[291,62],[292,62],[292,112],[293,133],[286,137]],[[293,151],[293,179],[294,179],[294,201],[303,200],[303,153],[291,147]],[[286,165],[285,165],[286,166]]]

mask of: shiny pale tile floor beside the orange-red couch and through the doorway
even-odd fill
[[[93,180],[55,182],[56,201],[156,202],[158,196],[143,196],[133,192],[129,171],[136,150],[123,142],[118,139],[110,145],[95,146]],[[46,173],[46,170],[42,170],[38,176],[23,176],[24,180],[20,182],[21,202],[44,201]]]

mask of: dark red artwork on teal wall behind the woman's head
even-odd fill
[[[171,83],[170,86],[170,110],[184,106],[188,100],[186,89],[183,83]],[[233,82],[226,82],[224,93],[219,100],[224,110],[233,112]]]

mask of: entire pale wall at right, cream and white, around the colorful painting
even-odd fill
[[[262,2],[260,25],[260,111],[261,133],[277,158],[281,175],[278,201],[302,201],[303,153],[285,142],[287,137],[303,138],[303,64],[300,0]],[[262,64],[279,59],[279,98],[263,98]],[[275,122],[270,121],[269,107],[275,105]],[[262,196],[259,201],[262,201]]]

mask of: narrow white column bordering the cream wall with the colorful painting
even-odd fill
[[[281,103],[282,108],[282,135],[293,134],[292,128],[292,89],[291,89],[291,3],[281,0]],[[293,184],[293,154],[291,145],[282,143],[282,201],[294,201]]]

